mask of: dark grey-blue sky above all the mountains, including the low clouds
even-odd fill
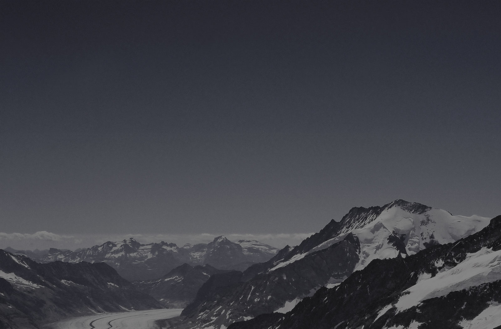
[[[395,199],[499,215],[499,17],[498,1],[2,0],[0,247],[281,247]]]

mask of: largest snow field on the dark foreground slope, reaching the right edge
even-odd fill
[[[399,311],[418,305],[422,300],[445,296],[451,291],[462,290],[486,282],[501,279],[501,250],[482,248],[468,254],[456,266],[434,277],[424,274],[418,282],[405,290],[395,306]]]

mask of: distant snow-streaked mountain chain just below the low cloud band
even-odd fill
[[[70,263],[105,262],[127,280],[144,281],[157,279],[184,263],[244,270],[254,263],[269,260],[277,251],[277,248],[258,241],[240,240],[235,243],[221,236],[208,244],[185,245],[181,248],[163,241],[140,244],[130,238],[75,252],[51,248],[47,254],[30,256],[43,263],[56,260]]]

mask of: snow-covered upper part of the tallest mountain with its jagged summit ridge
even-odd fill
[[[365,211],[364,211],[365,210]],[[291,264],[315,251],[325,249],[353,233],[361,245],[360,270],[373,259],[412,255],[426,246],[456,241],[480,231],[489,218],[480,216],[452,216],[449,212],[419,203],[395,200],[381,208],[353,208],[343,217],[340,228],[325,241],[318,241],[309,250],[293,250],[288,257],[278,260],[270,270]]]

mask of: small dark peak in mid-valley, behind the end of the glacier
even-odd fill
[[[134,281],[132,284],[166,307],[184,308],[211,275],[224,272],[227,270],[218,270],[207,264],[191,266],[184,263],[159,279]]]

